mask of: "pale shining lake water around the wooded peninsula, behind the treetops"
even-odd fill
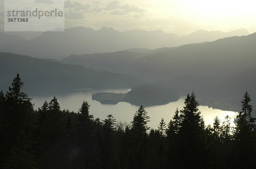
[[[64,96],[56,96],[58,102],[61,106],[61,110],[68,109],[70,111],[78,112],[79,107],[83,101],[88,101],[90,104],[90,114],[93,114],[94,118],[105,119],[108,114],[111,114],[116,118],[116,121],[126,121],[130,123],[133,120],[134,113],[138,110],[139,106],[132,105],[127,102],[119,102],[118,104],[101,104],[98,101],[92,100],[93,93],[107,92],[107,93],[127,93],[130,89],[122,89],[122,90],[76,90],[74,93]],[[32,103],[35,103],[34,109],[38,109],[41,107],[44,101],[49,101],[53,98],[53,96],[47,97],[36,97],[34,96],[32,99]],[[176,108],[178,107],[181,110],[184,106],[185,98],[180,98],[178,101],[170,102],[169,104],[159,105],[159,106],[150,106],[145,107],[145,110],[148,112],[148,116],[150,116],[150,122],[148,122],[148,126],[154,129],[157,129],[157,125],[159,124],[161,118],[164,118],[166,124],[169,123],[171,118],[174,115]],[[226,115],[231,117],[231,125],[234,126],[234,118],[236,117],[236,113],[232,111],[224,111],[219,109],[213,109],[208,106],[199,106],[199,110],[201,111],[201,115],[204,117],[205,124],[213,123],[213,120],[216,115],[224,120]]]

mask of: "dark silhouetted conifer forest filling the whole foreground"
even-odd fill
[[[195,93],[171,121],[157,129],[147,125],[145,107],[131,124],[90,114],[81,101],[79,112],[61,110],[57,98],[33,109],[19,74],[0,93],[0,168],[3,169],[228,169],[256,165],[256,126],[247,91],[241,96],[236,127],[230,117],[216,116],[205,126]]]

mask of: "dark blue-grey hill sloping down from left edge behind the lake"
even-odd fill
[[[0,53],[0,90],[6,92],[19,73],[30,95],[55,95],[81,88],[131,88],[141,81],[133,75],[87,69],[12,53]]]

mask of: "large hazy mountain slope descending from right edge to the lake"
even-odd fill
[[[126,73],[149,81],[171,82],[170,88],[181,95],[194,90],[204,105],[238,111],[246,90],[256,96],[255,44],[256,33],[183,45],[144,56],[129,65]],[[221,107],[223,101],[230,107]],[[252,104],[256,105],[256,99]]]

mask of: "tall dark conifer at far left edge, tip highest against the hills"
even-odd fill
[[[35,115],[31,99],[21,91],[22,87],[17,74],[6,95],[0,94],[0,167],[6,169],[35,167],[31,149]]]

